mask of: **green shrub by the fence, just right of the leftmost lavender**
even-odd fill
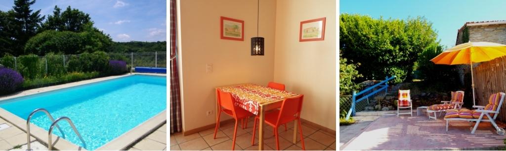
[[[38,64],[38,56],[34,54],[21,55],[17,58],[18,63],[23,64],[23,68],[18,68],[18,71],[26,79],[37,78],[37,74],[40,71]]]

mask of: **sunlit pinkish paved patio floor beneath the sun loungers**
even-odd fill
[[[504,147],[506,136],[498,135],[489,122],[480,123],[475,134],[471,134],[473,127],[466,121],[451,121],[448,131],[445,126],[442,117],[429,120],[426,115],[384,115],[344,144],[343,150],[496,150]]]

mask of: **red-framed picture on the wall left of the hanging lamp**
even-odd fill
[[[244,41],[244,21],[221,17],[221,39]]]

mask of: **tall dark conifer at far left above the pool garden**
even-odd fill
[[[13,40],[14,45],[13,55],[18,56],[23,54],[23,49],[26,41],[34,36],[40,28],[40,23],[44,20],[44,16],[40,17],[40,10],[33,12],[30,6],[35,3],[35,0],[15,0],[13,8],[14,18],[13,25]],[[32,13],[33,12],[33,13]]]

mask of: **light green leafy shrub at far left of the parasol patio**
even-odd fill
[[[341,56],[341,54],[339,54]],[[346,58],[340,57],[339,59],[339,93],[341,95],[350,95],[353,91],[359,90],[360,85],[354,81],[362,77],[356,70],[359,64],[348,64]]]

